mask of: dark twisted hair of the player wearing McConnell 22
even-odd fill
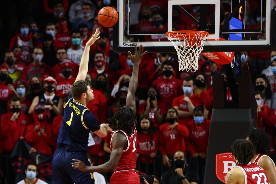
[[[237,160],[237,165],[246,165],[254,157],[255,149],[250,141],[237,139],[231,146],[232,155]]]

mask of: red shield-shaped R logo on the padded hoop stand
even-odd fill
[[[216,154],[216,177],[223,183],[225,183],[226,174],[235,166],[232,153]]]

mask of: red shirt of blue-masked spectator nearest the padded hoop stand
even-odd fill
[[[187,150],[191,155],[194,153],[207,153],[210,120],[204,119],[202,123],[196,124],[194,120],[187,122],[190,131],[189,137],[185,138]]]

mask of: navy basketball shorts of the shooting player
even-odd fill
[[[53,184],[94,184],[94,175],[89,172],[82,172],[71,165],[72,159],[83,161],[87,166],[90,163],[86,153],[68,152],[65,148],[57,148],[52,162],[52,183]]]

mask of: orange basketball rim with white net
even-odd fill
[[[166,37],[177,51],[179,71],[198,70],[198,57],[209,33],[206,31],[168,31]],[[184,41],[182,45],[181,42]]]

